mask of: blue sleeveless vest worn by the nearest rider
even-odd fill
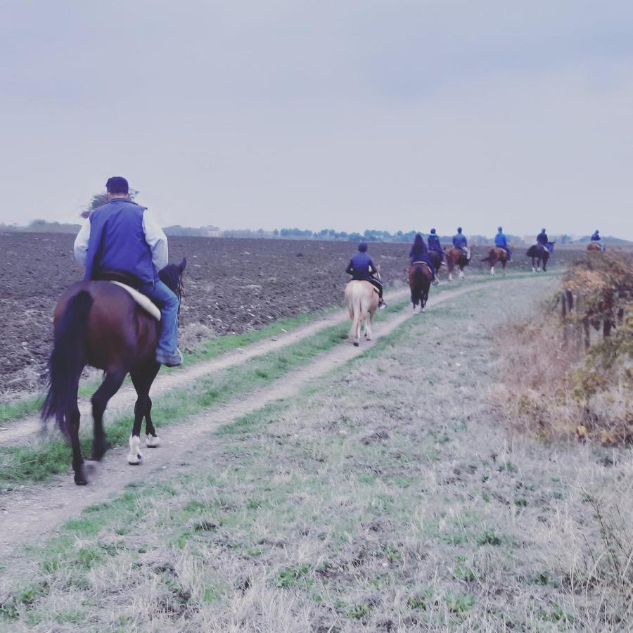
[[[115,198],[91,213],[84,279],[120,270],[144,282],[154,281],[152,252],[143,231],[145,209],[131,200]]]

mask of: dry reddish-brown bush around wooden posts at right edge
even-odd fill
[[[537,321],[499,335],[505,352],[494,396],[512,426],[612,445],[632,438],[633,261],[597,255],[570,266]],[[573,311],[563,316],[570,295]]]

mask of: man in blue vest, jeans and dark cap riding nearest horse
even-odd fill
[[[160,307],[156,360],[174,367],[182,363],[178,349],[178,298],[158,278],[169,262],[167,236],[146,210],[129,199],[121,176],[106,183],[108,202],[91,212],[75,239],[75,259],[86,267],[84,279],[121,271],[139,281],[143,295]]]

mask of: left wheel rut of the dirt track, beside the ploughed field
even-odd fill
[[[409,294],[409,288],[400,288],[390,293],[390,300],[399,301]],[[330,326],[338,325],[349,319],[347,316],[347,310],[337,310],[334,314],[325,316],[322,319],[313,321],[305,326],[299,326],[285,334],[275,335],[275,338],[267,338],[259,343],[253,343],[247,347],[238,347],[236,350],[226,352],[220,357],[212,358],[208,361],[198,362],[191,365],[191,367],[184,367],[179,371],[173,371],[170,373],[159,373],[155,382],[152,385],[151,395],[155,397],[166,391],[191,383],[200,376],[207,376],[210,373],[221,371],[222,369],[229,369],[235,365],[242,364],[248,359],[255,356],[261,356],[262,354],[269,354],[276,350],[280,350],[282,347],[293,345],[300,340],[304,340],[309,336],[324,330]],[[136,391],[132,385],[125,385],[122,387],[108,403],[108,416],[106,418],[106,424],[109,419],[117,414],[122,414],[125,411],[134,410],[134,402],[136,402]],[[79,411],[82,414],[82,419],[87,420],[91,418],[90,399],[87,397],[79,399]],[[88,425],[89,426],[89,425]],[[85,427],[84,427],[85,428]],[[51,424],[53,429],[53,424]],[[6,426],[0,429],[0,446],[8,446],[14,443],[24,444],[25,439],[29,436],[34,436],[41,431],[41,421],[39,416],[28,416],[22,418],[11,426]],[[54,430],[56,432],[56,430]]]

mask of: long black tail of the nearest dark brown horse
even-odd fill
[[[59,429],[66,433],[65,416],[77,407],[79,376],[84,369],[82,339],[88,324],[92,297],[82,290],[72,297],[56,328],[53,352],[49,359],[49,392],[41,407],[41,418],[55,416]]]

